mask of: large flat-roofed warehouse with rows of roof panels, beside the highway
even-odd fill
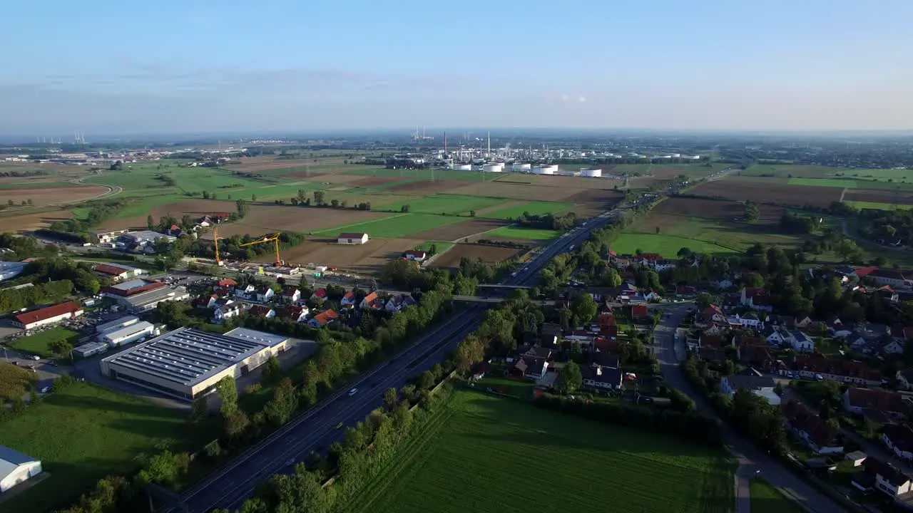
[[[100,361],[101,373],[158,393],[191,400],[285,351],[289,339],[237,328],[218,335],[179,328]]]

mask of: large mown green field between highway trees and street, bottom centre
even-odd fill
[[[457,391],[443,410],[346,511],[712,513],[734,506],[734,464],[721,450],[474,391]]]

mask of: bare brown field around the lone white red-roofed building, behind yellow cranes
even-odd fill
[[[219,234],[221,236],[221,234]],[[336,244],[335,238],[315,238],[303,244],[282,250],[281,256],[287,262],[307,265],[339,267],[362,274],[379,273],[390,260],[403,257],[406,250],[422,244],[414,238],[372,238],[368,244]],[[269,263],[272,254],[259,257]]]

